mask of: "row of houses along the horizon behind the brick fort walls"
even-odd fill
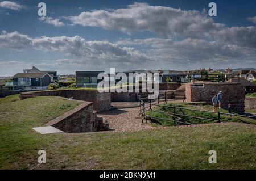
[[[164,82],[190,82],[192,79],[208,79],[210,75],[216,76],[217,74],[201,74],[200,71],[177,71],[177,70],[130,70],[125,71],[127,77],[127,82],[133,78],[133,82],[137,82],[139,80],[135,80],[134,77],[129,77],[129,73],[159,73],[159,83]],[[247,87],[253,87],[253,83],[249,83],[255,81],[256,72],[254,70],[241,70],[240,72],[233,72],[231,69],[226,69],[226,73],[221,73],[225,75],[226,81],[233,81],[234,78],[237,78],[238,82],[243,82],[243,84],[248,85]],[[209,72],[209,71],[208,71]],[[76,86],[77,87],[97,87],[98,82],[102,81],[102,79],[97,79],[98,74],[104,73],[104,71],[76,71]],[[117,73],[115,73],[117,74]],[[108,73],[110,77],[110,73]],[[115,78],[115,75],[114,75]],[[23,73],[17,73],[13,76],[12,81],[5,82],[5,87],[9,90],[46,90],[47,86],[50,83],[54,83],[58,79],[57,71],[55,70],[39,70],[35,66],[32,69],[24,69]],[[246,80],[246,81],[243,81]],[[111,80],[110,80],[111,81]],[[115,83],[119,80],[115,78]],[[152,79],[154,81],[154,79]],[[247,90],[250,90],[247,88]],[[255,89],[256,91],[256,89]]]

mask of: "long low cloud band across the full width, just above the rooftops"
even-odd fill
[[[34,48],[45,52],[63,52],[67,58],[37,62],[43,68],[63,73],[76,70],[195,69],[228,66],[256,66],[256,49],[228,44],[221,40],[187,38],[183,40],[149,38],[109,41],[86,41],[80,36],[29,37],[18,32],[3,32],[0,48]],[[26,65],[26,64],[24,64]],[[15,65],[15,66],[18,66]],[[20,65],[19,65],[20,66]],[[26,68],[26,66],[23,66]],[[5,70],[6,66],[1,66]]]

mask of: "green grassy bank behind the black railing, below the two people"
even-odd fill
[[[176,106],[176,114],[178,115],[187,115],[187,116],[193,116],[193,117],[202,117],[205,119],[212,119],[212,120],[218,120],[218,114],[217,113],[209,113],[209,112],[199,112],[199,111],[191,111],[191,110],[184,110],[180,108],[191,108],[194,110],[202,110],[202,111],[212,111],[213,106],[210,105],[190,105],[187,103],[176,103],[176,104],[166,104],[166,106]],[[155,111],[163,111],[163,112],[170,112],[174,113],[174,108],[169,107],[156,107]],[[217,111],[228,113],[227,110],[218,109]],[[160,124],[163,126],[170,126],[174,125],[174,116],[167,114],[167,113],[159,113],[159,112],[152,112],[147,111],[147,115],[150,115],[152,117],[156,117],[155,123],[156,125]],[[190,123],[190,124],[205,124],[205,123],[214,123],[213,121],[208,120],[202,120],[202,119],[196,119],[191,117],[185,117],[185,116],[176,116],[179,117],[183,122]],[[162,118],[162,119],[160,119]],[[163,120],[168,119],[168,120]],[[240,122],[240,123],[249,123],[249,124],[256,124],[256,120],[245,118],[245,117],[238,117],[238,116],[220,116],[221,122]],[[177,119],[176,119],[177,120]]]

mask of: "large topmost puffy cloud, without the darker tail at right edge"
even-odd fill
[[[119,30],[125,33],[151,31],[162,36],[199,37],[223,24],[214,23],[212,18],[199,11],[183,11],[164,6],[150,6],[147,3],[134,3],[126,9],[93,10],[69,16],[73,24],[101,27],[106,30]]]

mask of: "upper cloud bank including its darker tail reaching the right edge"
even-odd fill
[[[255,27],[226,27],[214,22],[205,11],[186,11],[147,3],[134,3],[126,9],[85,11],[68,19],[73,24],[128,34],[150,31],[165,38],[222,40],[228,44],[253,47],[256,43]]]

